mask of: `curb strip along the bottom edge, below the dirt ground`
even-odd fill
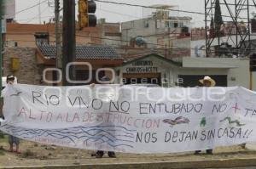
[[[2,166],[3,169],[195,169],[195,168],[219,168],[219,167],[246,167],[256,166],[256,158],[250,159],[224,159],[212,161],[176,161],[154,163],[119,163],[119,164],[81,164],[68,166]]]

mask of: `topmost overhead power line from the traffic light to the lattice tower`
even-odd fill
[[[159,7],[148,7],[145,5],[138,5],[138,4],[131,4],[131,3],[117,3],[117,2],[111,2],[111,1],[102,1],[102,0],[95,0],[96,2],[99,3],[111,3],[111,4],[117,4],[117,5],[125,5],[125,6],[131,6],[131,7],[140,7],[140,8],[154,8],[154,9],[164,9],[168,11],[174,11],[174,12],[181,12],[181,13],[187,13],[187,14],[202,14],[205,15],[205,13],[202,12],[195,12],[195,11],[189,11],[189,10],[180,10],[180,9],[172,9],[172,8],[159,8]],[[213,14],[208,14],[208,15],[213,15]],[[225,18],[232,18],[231,16],[228,15],[222,15]],[[247,18],[241,18],[241,19],[247,19]]]

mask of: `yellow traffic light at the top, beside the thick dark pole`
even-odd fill
[[[79,0],[79,29],[96,26],[96,3],[93,0]]]

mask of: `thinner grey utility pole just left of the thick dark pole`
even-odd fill
[[[61,54],[61,25],[60,25],[60,0],[55,0],[55,45],[56,45],[56,68],[62,69]],[[62,72],[65,70],[62,70]],[[57,79],[55,72],[55,80]]]

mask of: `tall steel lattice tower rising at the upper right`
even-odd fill
[[[220,28],[211,27],[215,14],[217,0],[205,0],[205,30],[207,57],[224,53],[245,57],[251,52],[251,25],[250,11],[256,9],[255,0],[219,0],[221,9],[226,8],[228,14],[222,15],[223,24]],[[230,42],[230,51],[221,48],[223,43]]]

